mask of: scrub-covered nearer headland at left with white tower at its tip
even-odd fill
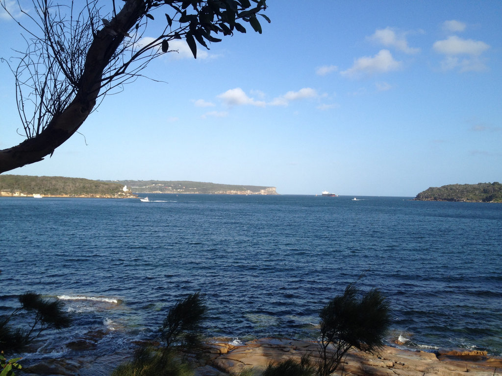
[[[61,176],[0,175],[0,196],[131,198],[123,185]]]

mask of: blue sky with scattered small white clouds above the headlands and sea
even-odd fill
[[[263,34],[185,45],[8,173],[415,196],[502,181],[502,2],[269,0]],[[314,5],[307,7],[306,4]],[[0,15],[0,56],[24,48]],[[21,46],[21,47],[20,47]],[[23,140],[0,64],[0,148]]]

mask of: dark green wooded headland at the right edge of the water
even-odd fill
[[[414,200],[502,203],[502,184],[495,181],[492,183],[449,184],[430,187],[419,193]]]

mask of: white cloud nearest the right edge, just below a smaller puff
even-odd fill
[[[490,48],[482,41],[462,39],[456,35],[436,41],[432,45],[434,51],[445,55],[441,61],[443,70],[459,69],[460,72],[484,71],[487,69],[481,55]]]

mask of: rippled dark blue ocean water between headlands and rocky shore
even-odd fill
[[[357,280],[388,297],[389,344],[502,355],[502,205],[149,197],[0,199],[0,314],[33,290],[73,317],[25,357],[128,349],[195,291],[208,336],[315,339],[319,309]]]

